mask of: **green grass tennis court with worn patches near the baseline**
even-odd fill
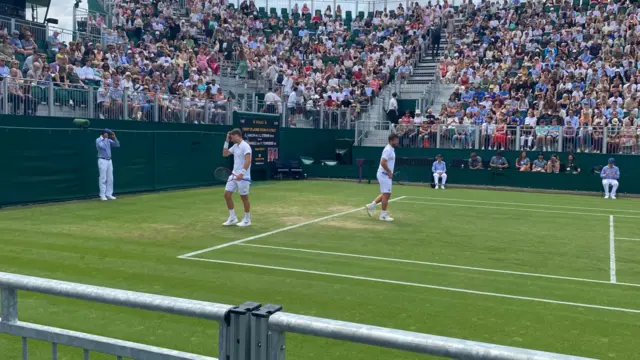
[[[260,184],[249,228],[220,226],[228,214],[219,187],[5,209],[0,271],[637,358],[640,200],[395,186],[395,221],[384,223],[359,209],[378,191],[346,182]],[[215,356],[215,323],[20,296],[24,321]],[[49,346],[30,344],[33,359],[50,357]],[[20,358],[20,345],[0,336],[9,349],[0,359]],[[425,358],[289,335],[287,348],[288,359],[300,360]],[[59,358],[81,355],[62,348]]]

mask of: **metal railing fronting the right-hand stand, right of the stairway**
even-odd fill
[[[640,127],[636,126],[468,125],[456,119],[419,124],[412,119],[411,123],[401,120],[392,130],[400,136],[401,147],[640,155]],[[369,144],[380,146],[380,141]]]

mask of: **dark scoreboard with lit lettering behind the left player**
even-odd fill
[[[254,115],[254,116],[251,116]],[[242,137],[251,145],[252,166],[264,166],[278,160],[280,145],[280,116],[242,114],[238,125]]]

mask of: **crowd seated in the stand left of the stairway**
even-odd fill
[[[188,4],[185,15],[172,0],[116,1],[110,21],[89,17],[88,36],[76,41],[53,32],[37,44],[28,29],[0,34],[9,111],[37,111],[53,83],[55,104],[71,108],[86,106],[86,89],[95,87],[100,117],[150,119],[157,103],[160,120],[173,121],[183,109],[189,121],[215,122],[213,115],[231,106],[216,82],[229,65],[237,78],[280,88],[278,98],[295,109],[291,124],[321,106],[354,107],[357,115],[399,69],[412,69],[430,25],[448,7],[416,2],[365,15],[340,6],[312,14],[306,3],[280,13],[253,1],[239,8],[224,0]],[[98,40],[90,36],[95,28]],[[203,118],[206,106],[213,118]]]

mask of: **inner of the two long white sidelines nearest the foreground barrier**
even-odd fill
[[[486,271],[486,272],[495,272],[495,273],[509,274],[509,275],[523,275],[523,276],[534,276],[534,277],[550,278],[550,279],[584,281],[584,282],[600,283],[600,284],[611,284],[611,282],[609,282],[607,280],[583,279],[583,278],[575,278],[575,277],[569,277],[569,276],[557,276],[557,275],[536,274],[536,273],[528,273],[528,272],[520,272],[520,271],[487,269],[487,268],[479,268],[479,267],[472,267],[472,266],[441,264],[441,263],[434,263],[434,262],[428,262],[428,261],[385,258],[385,257],[378,257],[378,256],[346,254],[346,253],[338,253],[338,252],[331,252],[331,251],[308,250],[308,249],[289,248],[289,247],[281,247],[281,246],[270,246],[270,245],[258,245],[258,244],[238,244],[238,245],[241,245],[241,246],[253,246],[253,247],[258,247],[258,248],[266,248],[266,249],[278,249],[278,250],[286,250],[286,251],[308,252],[308,253],[314,253],[314,254],[325,254],[325,255],[354,257],[354,258],[360,258],[360,259],[371,259],[371,260],[391,261],[391,262],[400,262],[400,263],[408,263],[408,264],[439,266],[439,267],[448,267],[448,268],[463,269],[463,270]],[[616,283],[616,285],[640,287],[640,284],[630,284],[630,283]]]

